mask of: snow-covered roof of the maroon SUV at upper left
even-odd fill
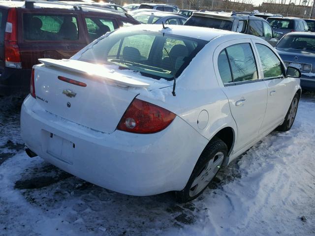
[[[124,13],[111,10],[111,9],[106,9],[102,7],[97,7],[93,5],[86,5],[89,4],[89,2],[61,2],[61,1],[28,1],[28,2],[33,2],[34,5],[32,8],[58,8],[58,9],[63,9],[63,10],[73,10],[73,11],[78,11],[81,10],[83,12],[103,12],[103,13],[108,13],[108,14],[115,14],[119,15],[121,17],[126,17]],[[95,2],[97,4],[97,2]],[[11,8],[11,7],[17,7],[17,8],[26,8],[25,1],[0,1],[0,8]],[[79,9],[81,8],[81,9]]]

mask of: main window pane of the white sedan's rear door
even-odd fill
[[[240,43],[226,48],[232,71],[232,81],[242,82],[258,78],[255,58],[249,43]]]

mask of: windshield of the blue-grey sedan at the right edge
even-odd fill
[[[293,48],[315,51],[315,36],[286,35],[277,45],[277,48]]]

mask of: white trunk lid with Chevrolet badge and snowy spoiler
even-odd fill
[[[114,66],[78,60],[39,60],[44,64],[34,66],[38,104],[49,113],[108,134],[115,131],[141,90],[150,84],[165,87],[156,80],[151,82],[153,79]]]

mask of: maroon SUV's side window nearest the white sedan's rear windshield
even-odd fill
[[[86,17],[85,22],[87,24],[91,41],[99,38],[107,32],[114,30],[114,22],[111,19]]]

